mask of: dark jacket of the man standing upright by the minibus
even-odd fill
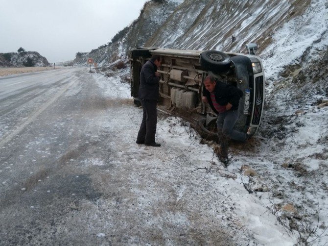
[[[157,66],[152,61],[147,61],[141,68],[139,98],[158,100],[160,78],[155,75]]]

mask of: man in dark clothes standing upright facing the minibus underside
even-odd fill
[[[142,122],[139,129],[137,144],[160,147],[155,142],[157,124],[157,100],[159,98],[161,56],[154,54],[141,68],[139,99],[143,107]]]

